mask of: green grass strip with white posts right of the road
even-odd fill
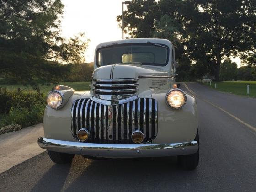
[[[212,82],[204,85],[212,87],[214,89],[214,84],[216,83],[217,90],[234,93],[242,96],[250,96],[256,98],[256,81],[224,81],[224,82]],[[250,94],[247,94],[247,85],[250,87]]]

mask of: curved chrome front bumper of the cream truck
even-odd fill
[[[38,138],[46,150],[107,158],[137,158],[188,155],[198,150],[197,141],[174,144],[92,144]]]

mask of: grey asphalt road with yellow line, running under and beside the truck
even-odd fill
[[[176,157],[89,160],[76,155],[71,165],[55,165],[44,152],[0,174],[0,192],[256,191],[256,99],[186,85],[197,97],[200,117],[196,170],[182,170]]]

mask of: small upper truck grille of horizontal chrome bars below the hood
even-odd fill
[[[137,95],[137,78],[133,79],[94,79],[94,96],[104,100],[120,100]]]

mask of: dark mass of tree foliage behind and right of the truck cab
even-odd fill
[[[221,61],[238,53],[247,64],[255,63],[256,1],[132,0],[124,21],[132,38],[171,40],[177,58],[188,57],[201,76],[220,80]]]

